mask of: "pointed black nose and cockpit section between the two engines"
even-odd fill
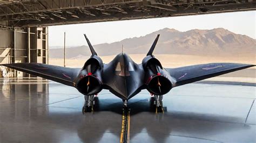
[[[108,64],[104,72],[104,77],[108,81],[110,91],[122,98],[130,99],[137,93],[139,88],[144,84],[144,70],[137,63],[133,62],[130,56],[120,53],[114,60]]]

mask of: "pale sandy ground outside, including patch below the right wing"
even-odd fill
[[[115,55],[102,56],[104,63],[109,63]],[[143,54],[130,55],[134,62],[141,63],[145,57]],[[155,55],[157,59],[165,68],[176,68],[189,65],[197,65],[203,63],[212,62],[237,62],[237,63],[249,63],[256,65],[255,57],[214,57],[214,56],[196,56],[196,55]],[[85,61],[89,59],[89,56],[78,59],[66,59],[66,67],[82,68]],[[63,59],[49,59],[50,65],[63,66]],[[242,82],[252,83],[250,85],[256,85],[256,67],[235,71],[233,73],[221,75],[218,77],[208,78],[205,81],[214,81],[214,83],[227,82]],[[207,82],[203,83],[207,83]],[[212,83],[212,82],[211,82]],[[239,83],[239,84],[242,84]],[[233,83],[232,83],[233,84]],[[246,84],[247,85],[247,84]]]

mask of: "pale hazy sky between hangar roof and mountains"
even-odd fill
[[[245,34],[256,39],[256,11],[218,13],[198,16],[181,16],[119,22],[73,24],[49,27],[49,46],[62,46],[66,32],[67,46],[87,45],[86,33],[92,45],[111,43],[125,38],[140,37],[165,27],[179,31],[191,29],[212,29],[223,27],[237,34]]]

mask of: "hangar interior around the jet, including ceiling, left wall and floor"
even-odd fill
[[[0,0],[0,63],[48,63],[48,26],[248,10],[256,0]],[[31,76],[1,69],[5,77]],[[129,101],[122,135],[123,103],[108,90],[98,111],[83,116],[84,96],[73,87],[34,77],[0,81],[0,142],[256,141],[255,85],[184,85],[165,95],[163,114],[151,112],[143,90]]]

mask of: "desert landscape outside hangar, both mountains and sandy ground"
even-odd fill
[[[129,54],[134,62],[141,63],[160,34],[154,55],[165,68],[176,68],[213,62],[234,62],[256,65],[256,40],[247,35],[236,34],[224,28],[212,30],[190,30],[180,32],[170,28],[149,33],[142,37],[127,38],[110,44],[93,45],[104,63],[109,63],[122,51]],[[90,38],[89,38],[90,39]],[[87,46],[66,48],[66,67],[81,68],[90,58]],[[50,47],[49,64],[63,66],[63,48]],[[256,83],[256,67],[235,71],[211,81]]]

